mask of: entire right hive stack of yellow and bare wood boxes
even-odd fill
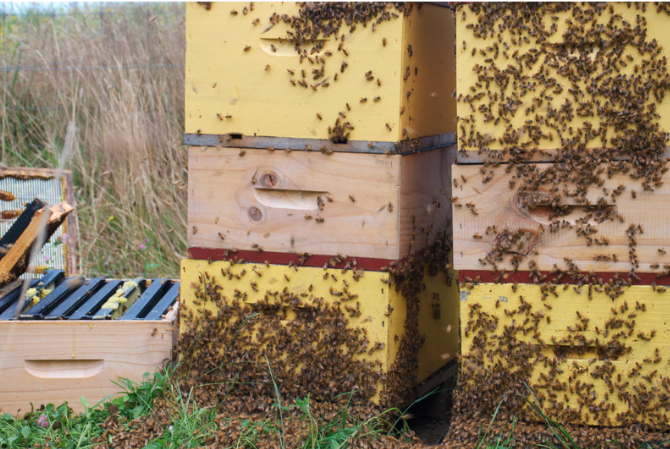
[[[482,4],[456,22],[458,412],[506,395],[541,419],[525,382],[564,424],[664,429],[667,8]]]

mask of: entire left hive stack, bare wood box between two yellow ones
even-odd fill
[[[402,8],[187,4],[181,328],[205,383],[398,405],[454,358],[453,15]]]

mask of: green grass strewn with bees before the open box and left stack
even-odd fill
[[[385,416],[398,412],[387,410],[359,419],[351,403],[352,395],[348,394],[327,404],[334,407],[335,413],[324,414],[322,406],[315,409],[307,394],[290,403],[277,396],[265,415],[235,416],[221,413],[212,405],[197,404],[192,391],[181,389],[175,370],[156,372],[151,377],[147,374],[139,384],[120,379],[116,385],[120,394],[99,404],[91,406],[82,397],[83,413],[75,414],[63,403],[47,404],[18,417],[1,415],[0,448],[90,448],[99,444],[114,447],[119,443],[119,434],[113,435],[102,426],[114,421],[124,438],[137,431],[146,433],[142,423],[149,423],[148,427],[160,423],[160,430],[148,435],[146,445],[138,446],[137,440],[130,440],[135,443],[132,447],[147,449],[209,446],[217,432],[228,430],[234,436],[231,444],[225,446],[230,448],[262,448],[272,441],[290,448],[339,449],[349,447],[354,440],[385,438],[389,426]]]

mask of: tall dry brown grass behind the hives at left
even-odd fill
[[[29,9],[1,25],[0,163],[52,167],[74,122],[65,168],[74,172],[82,273],[178,276],[183,4]]]

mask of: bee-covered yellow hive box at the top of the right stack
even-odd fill
[[[463,162],[485,160],[485,155],[476,154],[480,147],[554,150],[561,147],[561,139],[583,140],[587,133],[577,130],[589,123],[597,134],[610,105],[628,114],[637,100],[654,103],[654,121],[670,129],[670,100],[666,95],[656,102],[651,84],[645,85],[647,79],[655,81],[655,71],[642,69],[661,63],[658,79],[667,74],[661,67],[670,57],[668,15],[658,5],[574,3],[561,10],[551,4],[524,4],[506,11],[499,5],[483,13],[493,23],[483,23],[471,6],[462,5],[455,13],[459,149],[469,153]],[[530,14],[520,19],[510,12],[523,8],[539,8],[544,14],[536,21]],[[539,30],[548,36],[540,38]],[[614,30],[620,33],[617,37],[610,34]],[[481,37],[484,32],[486,38]],[[653,62],[655,50],[649,44],[660,47]],[[580,58],[593,62],[593,69],[578,68]],[[594,94],[596,89],[602,92]],[[649,98],[640,92],[649,93]],[[632,96],[620,101],[624,93]],[[549,113],[551,109],[555,112]],[[631,124],[635,120],[635,115],[628,118]],[[548,126],[550,121],[558,126]],[[597,135],[585,148],[617,148],[609,139],[620,130],[615,133],[611,123],[605,128],[606,144]],[[536,153],[533,158],[551,156]]]

